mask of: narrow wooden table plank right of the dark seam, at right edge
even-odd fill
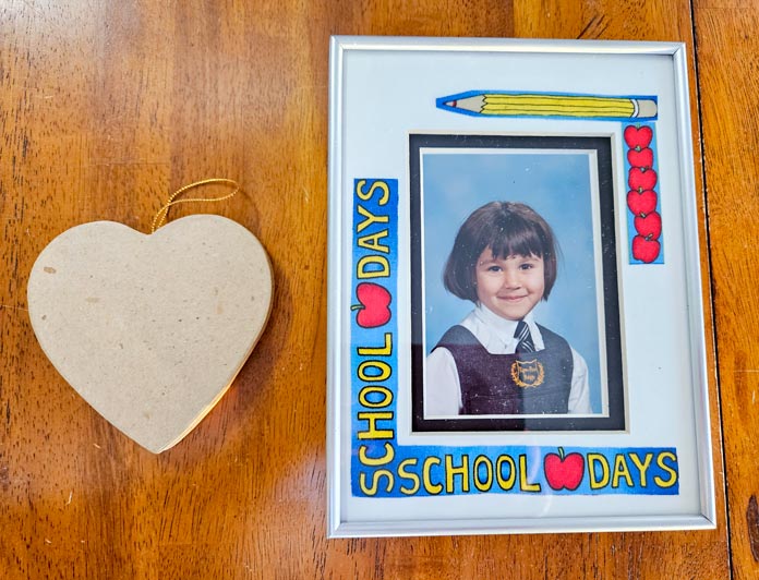
[[[742,5],[743,4],[743,5]],[[748,8],[748,10],[746,10]],[[759,274],[755,4],[696,2],[699,86],[734,578],[759,576]]]

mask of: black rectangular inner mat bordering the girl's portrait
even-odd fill
[[[600,212],[601,271],[605,336],[606,401],[609,415],[530,415],[425,419],[424,416],[424,275],[423,252],[447,252],[449,249],[423,247],[422,231],[422,149],[549,149],[593,150],[597,160],[598,208]],[[410,265],[411,265],[411,385],[412,431],[429,432],[497,432],[497,431],[625,431],[625,386],[623,379],[619,297],[617,280],[617,242],[615,235],[612,138],[610,136],[525,136],[472,134],[411,134],[410,162]],[[463,217],[463,216],[462,216]]]

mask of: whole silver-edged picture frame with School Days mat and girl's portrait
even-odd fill
[[[330,537],[715,525],[686,60],[333,37]]]

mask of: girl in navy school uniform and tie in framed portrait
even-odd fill
[[[531,207],[493,202],[467,218],[444,285],[474,310],[426,359],[426,418],[592,412],[585,359],[534,319],[556,269],[554,234]]]

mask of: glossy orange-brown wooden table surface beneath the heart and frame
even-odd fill
[[[0,2],[0,578],[759,577],[758,27],[749,0]],[[333,34],[687,45],[715,530],[326,540]],[[209,176],[246,197],[172,217],[251,228],[274,311],[233,388],[154,456],[52,368],[26,281],[56,234],[99,219],[146,231],[171,191]]]

